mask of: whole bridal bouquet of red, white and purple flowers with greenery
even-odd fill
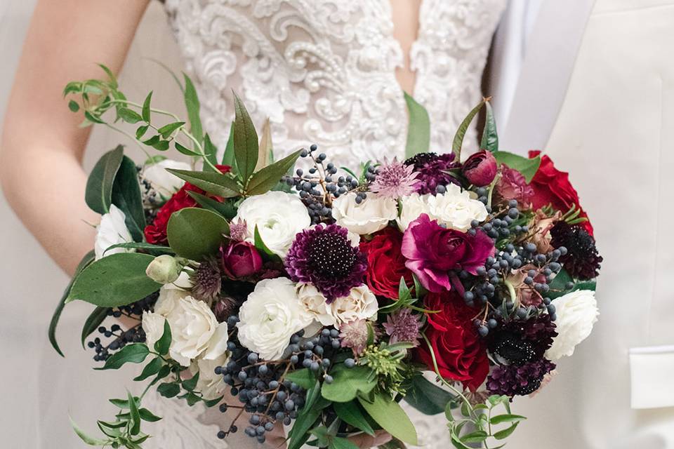
[[[218,438],[240,429],[263,443],[292,424],[290,449],[356,448],[355,436],[382,433],[382,447],[404,448],[418,443],[405,401],[444,413],[456,448],[488,448],[525,419],[512,398],[541,389],[592,330],[602,258],[586,213],[547,156],[498,149],[487,99],[451,152],[434,154],[428,114],[407,98],[407,159],[348,168],[316,145],[275,160],[268,123],[258,136],[234,96],[218,160],[187,76],[189,125],[154,109],[152,94],[127,100],[108,75],[70,83],[70,109],[194,159],[148,155],[137,167],[117,147],[88,178],[86,202],[103,216],[50,338],[60,352],[67,302],[95,305],[81,340],[96,369],[143,364],[133,380],[147,387],[111,399],[119,413],[98,421],[100,437],[73,423],[86,443],[141,448],[141,423],[160,419],[143,407],[156,388],[239,409]],[[482,150],[461,162],[483,108]]]

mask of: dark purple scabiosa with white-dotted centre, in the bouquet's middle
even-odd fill
[[[362,285],[367,262],[345,227],[317,225],[295,236],[285,267],[290,279],[312,283],[330,303]]]

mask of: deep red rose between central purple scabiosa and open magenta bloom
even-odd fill
[[[371,241],[360,243],[360,250],[367,257],[365,282],[375,295],[398,299],[400,278],[407,285],[413,283],[412,272],[405,267],[405,258],[400,252],[402,232],[392,227],[374,234]]]

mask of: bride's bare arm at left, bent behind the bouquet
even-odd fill
[[[93,246],[81,160],[90,128],[79,128],[62,96],[68,81],[118,72],[147,0],[39,0],[6,110],[0,180],[9,203],[68,274]]]

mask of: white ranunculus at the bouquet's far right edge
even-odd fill
[[[562,356],[574,354],[576,344],[585,340],[597,322],[599,309],[595,292],[592,290],[576,290],[558,297],[553,301],[557,320],[557,337],[546,352],[550,360],[558,360]]]

